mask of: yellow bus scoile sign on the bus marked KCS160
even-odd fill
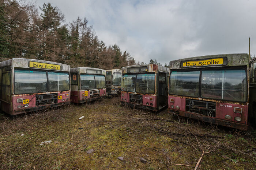
[[[222,65],[223,58],[182,62],[183,67]]]

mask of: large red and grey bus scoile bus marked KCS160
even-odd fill
[[[170,62],[168,111],[236,129],[248,129],[248,54]]]

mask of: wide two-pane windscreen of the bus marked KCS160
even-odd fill
[[[198,94],[193,94],[192,90],[186,94],[178,94],[172,91],[173,79],[172,73],[184,72],[200,72],[198,81]],[[187,75],[188,76],[188,75]],[[224,100],[232,102],[247,102],[248,100],[248,83],[247,70],[244,67],[240,68],[208,68],[194,70],[171,70],[169,78],[169,95],[200,97],[203,99]],[[191,77],[189,77],[191,78]],[[232,78],[232,79],[231,79]],[[177,79],[176,79],[177,80]],[[197,81],[196,81],[197,82]],[[184,82],[182,82],[184,84]],[[187,82],[188,84],[192,82]],[[191,86],[190,86],[191,87]],[[175,90],[176,91],[176,90]],[[188,95],[189,94],[189,95]],[[234,95],[234,96],[233,96]],[[241,96],[238,98],[236,96]]]

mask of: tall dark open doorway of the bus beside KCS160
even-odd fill
[[[157,81],[157,106],[162,108],[166,106],[167,98],[167,87],[166,87],[166,72],[158,72],[158,81]]]

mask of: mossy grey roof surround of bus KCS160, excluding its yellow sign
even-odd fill
[[[181,68],[181,62],[182,61],[193,61],[193,60],[200,60],[200,59],[214,59],[214,58],[227,58],[227,65],[225,66],[218,66],[218,67],[227,67],[227,66],[246,66],[249,64],[249,55],[246,53],[240,53],[240,54],[217,54],[217,55],[205,55],[205,56],[197,56],[197,57],[191,57],[191,58],[184,58],[184,59],[178,59],[170,61],[169,67],[170,69],[179,69]],[[199,68],[193,67],[193,68]],[[204,67],[212,67],[212,66],[204,66]],[[188,67],[191,68],[191,67]],[[184,69],[188,69],[184,68]],[[183,69],[183,68],[182,68]]]

